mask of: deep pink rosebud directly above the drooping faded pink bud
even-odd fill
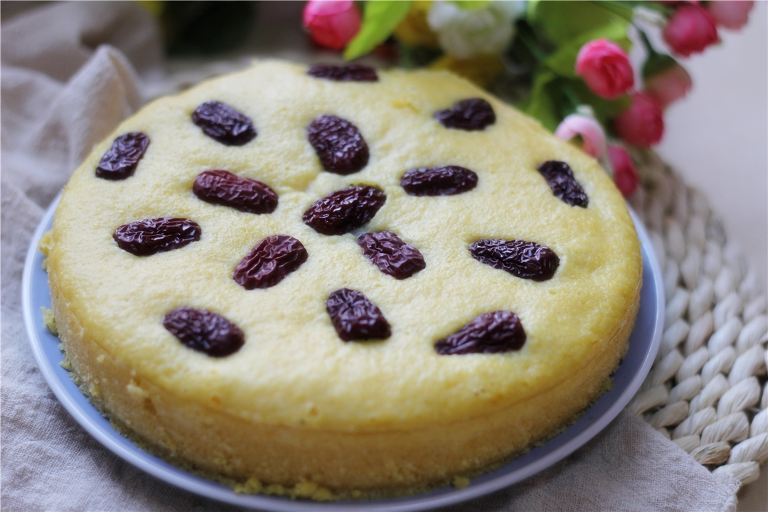
[[[699,53],[718,41],[712,15],[707,9],[693,4],[678,7],[667,21],[662,35],[667,45],[684,57]]]

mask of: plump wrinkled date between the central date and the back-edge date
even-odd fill
[[[336,116],[320,116],[307,128],[310,144],[329,173],[356,173],[368,164],[368,144],[357,127]]]

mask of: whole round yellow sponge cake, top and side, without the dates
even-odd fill
[[[449,130],[432,114],[484,97],[497,116],[482,131]],[[190,121],[205,101],[230,104],[258,136],[242,147]],[[324,172],[306,138],[321,114],[352,121],[369,164]],[[95,177],[114,137],[151,139],[133,177]],[[588,197],[568,206],[536,171],[564,160]],[[478,186],[411,197],[406,170],[459,165]],[[225,169],[267,183],[274,213],[254,215],[197,199],[197,174]],[[352,184],[381,187],[386,203],[366,231],[391,230],[419,248],[426,268],[398,281],[362,256],[356,233],[324,236],[302,221],[316,200]],[[125,223],[181,216],[198,242],[137,257],[119,249]],[[309,259],[270,289],[246,290],[234,266],[261,239],[300,239]],[[548,246],[560,267],[545,282],[479,263],[480,238]],[[333,82],[306,68],[261,61],[154,101],[98,144],[75,171],[55,215],[48,272],[68,358],[104,408],[141,438],[203,471],[333,493],[392,494],[449,482],[545,438],[601,392],[627,348],[641,286],[637,236],[621,195],[590,157],[535,121],[446,72],[379,71],[376,83]],[[380,342],[339,340],[330,292],[363,292],[392,325]],[[164,329],[180,306],[208,309],[243,329],[227,358],[181,345]],[[516,312],[518,352],[438,355],[433,348],[475,316]]]

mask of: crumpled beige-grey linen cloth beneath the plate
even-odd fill
[[[35,9],[2,25],[0,53],[2,510],[243,510],[165,484],[94,441],[49,390],[22,320],[25,253],[48,204],[98,140],[189,75],[164,74],[157,26],[132,3]],[[548,470],[443,510],[735,510],[737,488],[624,411]]]

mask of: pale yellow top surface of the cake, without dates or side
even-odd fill
[[[98,144],[61,198],[49,260],[84,339],[180,398],[266,423],[340,430],[460,421],[588,368],[632,321],[627,312],[641,284],[637,236],[611,180],[591,157],[452,74],[377,74],[335,81],[257,61],[154,101]],[[435,117],[481,98],[495,115],[482,129],[446,127]],[[210,101],[250,119],[253,134],[236,126],[237,144],[206,134],[193,118]],[[310,126],[323,116],[358,132],[344,125],[344,137],[365,140],[367,159],[356,154],[346,163],[359,170],[323,169]],[[114,140],[135,133],[148,142],[134,173],[98,177]],[[585,206],[554,195],[538,171],[551,160],[568,164]],[[406,190],[407,171],[445,166],[471,170],[476,183],[442,196]],[[276,206],[252,213],[201,200],[194,183],[208,170],[266,184]],[[325,234],[305,222],[316,202],[349,187],[384,198],[364,225]],[[197,239],[148,256],[114,239],[120,226],[164,217],[194,221]],[[366,258],[356,240],[382,231],[418,249],[424,268],[396,279]],[[300,241],[306,261],[266,288],[233,279],[241,260],[277,235]],[[469,247],[484,239],[544,246],[558,265],[548,279],[523,279],[473,257]],[[343,341],[326,309],[340,289],[378,307],[386,339]],[[183,345],[164,319],[184,307],[237,325],[242,346],[211,357]],[[500,311],[514,312],[525,329],[520,348],[465,355],[435,348],[478,315]]]

